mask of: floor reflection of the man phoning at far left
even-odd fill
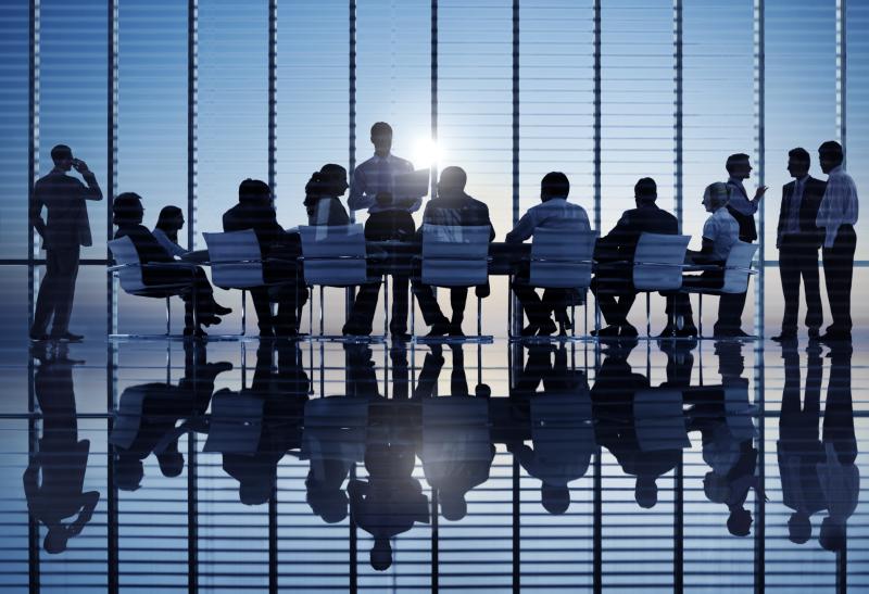
[[[90,441],[78,439],[73,364],[65,350],[51,358],[45,351],[34,388],[42,412],[42,437],[24,471],[24,494],[30,516],[48,529],[42,548],[56,554],[66,551],[93,517],[98,491],[84,491]],[[64,520],[70,520],[64,522]]]

